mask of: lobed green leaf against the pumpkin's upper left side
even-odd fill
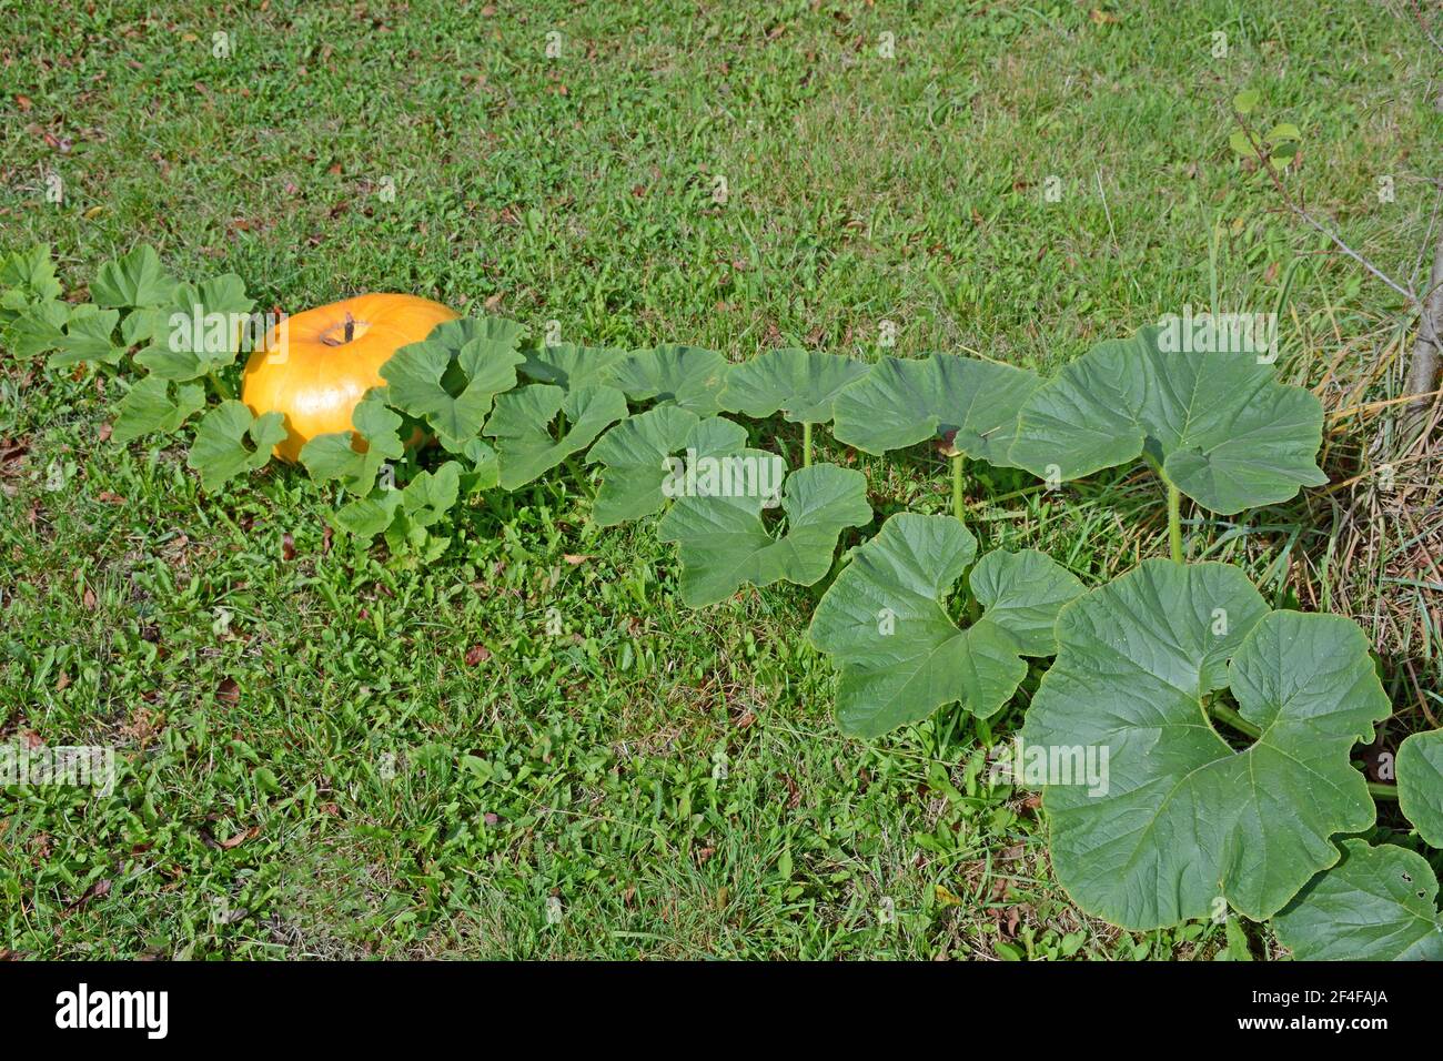
[[[126,319],[124,339],[149,342],[136,354],[137,364],[165,380],[186,383],[235,361],[241,349],[238,318],[254,307],[245,281],[234,273],[176,284],[167,306],[141,309]],[[130,326],[131,319],[136,326]]]

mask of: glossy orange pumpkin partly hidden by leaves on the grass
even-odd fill
[[[414,294],[358,294],[296,313],[245,362],[241,401],[255,416],[286,416],[276,456],[296,460],[317,435],[351,430],[351,413],[371,387],[385,385],[381,365],[397,349],[457,316]]]

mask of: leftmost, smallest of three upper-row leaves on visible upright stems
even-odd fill
[[[814,349],[769,349],[733,365],[719,398],[722,409],[755,420],[778,410],[791,423],[828,423],[837,393],[867,374],[867,365]]]

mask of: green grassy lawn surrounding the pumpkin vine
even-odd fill
[[[1395,742],[1443,712],[1439,465],[1400,463],[1401,501],[1365,482],[1403,303],[1228,137],[1255,89],[1258,121],[1302,130],[1290,192],[1421,286],[1443,113],[1410,12],[0,0],[0,256],[53,244],[71,297],[149,241],[289,312],[397,290],[734,361],[874,359],[890,322],[887,352],[1043,372],[1206,306],[1214,276],[1248,312],[1290,277],[1280,378],[1323,398],[1335,485],[1237,518],[1189,505],[1189,550],[1355,618]],[[182,450],[107,442],[118,388],[0,361],[0,736],[123,764],[113,798],[0,790],[0,951],[1227,951],[1219,925],[1082,915],[1036,798],[984,784],[1036,667],[990,725],[951,709],[844,739],[801,637],[825,582],[688,611],[652,523],[599,530],[567,475],[486,495],[433,563],[394,560],[332,534],[303,472],[208,495]],[[873,530],[948,511],[942,458],[817,445],[869,473]],[[1166,553],[1136,472],[1046,494],[975,465],[967,501],[984,547],[1089,586]],[[1245,946],[1278,950],[1257,927]]]

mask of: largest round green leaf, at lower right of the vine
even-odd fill
[[[1333,833],[1372,824],[1349,754],[1390,706],[1349,619],[1270,614],[1237,567],[1147,560],[1063,608],[1056,637],[1023,729],[1056,769],[1025,781],[1084,911],[1149,930],[1225,899],[1263,920],[1338,859]],[[1205,716],[1224,687],[1261,732],[1244,751]],[[1076,761],[1101,784],[1065,775]]]

